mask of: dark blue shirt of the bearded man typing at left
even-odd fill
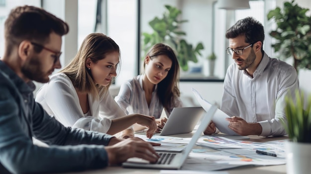
[[[14,92],[14,91],[13,91]],[[33,105],[33,120],[21,117],[21,106],[7,85],[0,83],[0,163],[11,173],[57,173],[104,168],[108,165],[103,145],[33,145],[25,132],[33,123],[33,133],[49,144],[107,144],[110,136],[65,128],[50,118],[38,104]],[[40,116],[41,114],[41,116]],[[30,129],[31,130],[31,127]]]

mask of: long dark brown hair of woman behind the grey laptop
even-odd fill
[[[147,53],[152,59],[159,55],[165,55],[172,60],[172,66],[167,73],[167,76],[157,84],[157,97],[166,111],[171,108],[175,100],[180,96],[178,82],[179,82],[179,63],[174,51],[167,45],[156,44]],[[144,61],[144,67],[146,63]]]

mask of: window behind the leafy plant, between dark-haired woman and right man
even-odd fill
[[[215,71],[214,75],[210,75],[208,68],[209,62],[207,57],[213,53],[211,49],[213,45],[213,0],[140,0],[140,2],[141,33],[153,34],[155,30],[152,24],[150,24],[150,21],[156,18],[161,20],[163,14],[169,11],[166,9],[165,5],[169,5],[169,8],[173,7],[181,11],[181,14],[177,16],[177,20],[187,20],[187,22],[179,25],[179,31],[185,32],[186,35],[176,36],[173,42],[179,43],[180,40],[183,39],[187,42],[188,46],[192,45],[193,50],[200,43],[203,45],[203,49],[199,51],[200,54],[195,53],[197,62],[191,60],[195,59],[193,56],[184,57],[187,61],[182,61],[181,52],[177,53],[179,64],[181,65],[180,81],[223,81],[224,66],[221,64],[221,60],[224,58],[221,58],[218,53],[215,53],[218,57],[218,59],[215,60],[215,70],[218,69],[221,73]],[[163,32],[167,32],[167,30]],[[170,34],[174,35],[173,32]],[[145,36],[141,35],[141,59],[147,53],[147,49],[144,50],[144,44],[146,45],[146,43],[144,43],[145,38]],[[165,36],[164,41],[157,38],[155,38],[155,40],[169,45],[176,52],[178,50],[177,47],[180,45],[177,44],[177,47],[172,46],[167,36]]]

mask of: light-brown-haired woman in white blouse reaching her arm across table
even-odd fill
[[[151,138],[155,117],[126,116],[109,93],[119,63],[120,49],[111,38],[89,34],[76,57],[39,90],[36,101],[65,126],[108,134],[122,131],[121,137],[127,138],[134,136],[131,125],[138,123],[149,127]]]

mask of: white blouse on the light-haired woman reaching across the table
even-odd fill
[[[111,119],[125,116],[109,91],[99,98],[91,94],[87,97],[90,109],[89,115],[84,116],[72,81],[66,74],[57,73],[38,91],[35,101],[65,126],[85,130],[106,133],[110,128]]]

